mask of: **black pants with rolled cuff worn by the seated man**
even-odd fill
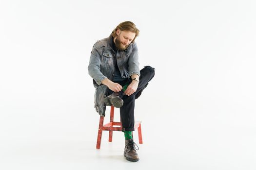
[[[155,68],[150,66],[145,66],[140,70],[140,77],[138,88],[135,93],[130,96],[121,95],[123,100],[123,105],[120,107],[120,119],[122,122],[123,131],[134,131],[134,108],[135,108],[135,99],[141,95],[141,92],[146,88],[148,82],[155,76]],[[131,80],[125,80],[122,82],[116,82],[119,85],[127,85],[131,83]],[[112,94],[113,91],[109,90],[109,94]],[[122,91],[120,93],[123,93]]]

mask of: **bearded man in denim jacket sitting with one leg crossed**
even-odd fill
[[[108,38],[94,44],[88,66],[96,88],[96,111],[105,116],[106,105],[120,108],[125,136],[124,156],[133,162],[139,160],[138,146],[132,136],[135,99],[155,75],[155,69],[150,66],[139,70],[138,47],[134,41],[138,34],[133,22],[120,23]]]

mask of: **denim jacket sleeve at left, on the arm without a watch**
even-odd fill
[[[95,82],[98,85],[100,85],[102,80],[106,78],[106,76],[104,76],[100,71],[100,64],[101,64],[101,55],[98,52],[96,45],[94,45],[91,51],[88,72],[89,72],[89,75],[95,80]]]

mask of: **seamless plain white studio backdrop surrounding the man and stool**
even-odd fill
[[[99,163],[90,51],[130,20],[140,68],[156,68],[136,103],[147,153],[137,165],[255,170],[255,9],[254,0],[1,0],[0,169]]]

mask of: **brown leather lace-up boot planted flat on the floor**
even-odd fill
[[[138,150],[138,145],[134,143],[133,139],[125,139],[123,155],[128,161],[137,162],[139,160],[136,150]]]

